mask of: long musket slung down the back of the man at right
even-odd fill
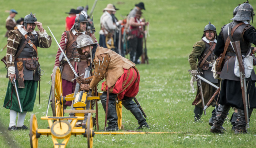
[[[240,41],[232,42],[231,45],[232,45],[234,51],[236,52],[236,56],[237,56],[238,63],[239,63],[240,85],[241,85],[242,99],[243,99],[243,104],[244,104],[245,122],[246,122],[246,127],[250,128],[250,125],[249,125],[249,114],[248,114],[248,102],[247,102],[247,89],[246,89],[246,80],[245,80],[245,71],[244,71],[244,64],[243,64],[243,60],[242,60]]]

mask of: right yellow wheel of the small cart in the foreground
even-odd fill
[[[93,131],[93,117],[91,116],[91,113],[88,114],[87,118],[87,146],[88,148],[93,147],[93,136],[94,136],[94,131]]]

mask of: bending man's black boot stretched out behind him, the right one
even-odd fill
[[[137,129],[142,129],[144,127],[150,128],[146,122],[146,119],[143,117],[141,110],[139,109],[137,104],[132,101],[132,99],[133,98],[128,98],[125,96],[124,99],[122,100],[122,105],[124,105],[124,107],[127,110],[130,110],[132,115],[138,120],[138,123],[140,126]]]

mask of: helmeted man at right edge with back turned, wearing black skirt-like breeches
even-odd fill
[[[224,52],[224,47],[230,32],[234,42],[240,41],[241,54],[243,57],[251,53],[251,43],[256,45],[256,31],[255,28],[250,25],[251,20],[253,21],[253,16],[253,7],[248,3],[248,1],[239,6],[236,15],[231,19],[233,21],[221,28],[214,50],[216,56],[219,56]],[[225,63],[219,76],[223,79],[219,94],[220,105],[216,113],[217,115],[214,118],[211,132],[223,133],[220,127],[223,124],[230,107],[236,107],[238,108],[238,113],[235,121],[234,133],[247,133],[240,77],[234,74],[236,53],[229,42],[227,42],[227,45],[227,51],[224,59]],[[253,65],[251,65],[251,67],[253,67]],[[246,95],[249,107],[248,117],[250,118],[253,108],[256,108],[256,75],[253,69],[251,70],[251,74],[247,72],[245,74],[250,75],[250,77],[246,78]]]

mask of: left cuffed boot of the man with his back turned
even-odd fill
[[[222,124],[224,123],[224,120],[227,117],[229,109],[230,109],[229,105],[219,105],[216,111],[216,116],[213,119],[213,126],[211,127],[212,133],[223,134]]]

